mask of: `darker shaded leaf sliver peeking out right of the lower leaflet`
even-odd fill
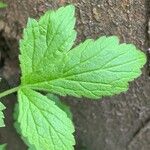
[[[67,114],[68,118],[70,118],[72,120],[73,117],[72,117],[72,113],[70,111],[69,106],[67,106],[63,102],[61,102],[60,99],[56,95],[49,93],[46,96],[50,100],[54,101],[55,105],[57,105],[61,110],[63,110]]]

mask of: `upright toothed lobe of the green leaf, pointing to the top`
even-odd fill
[[[74,25],[72,5],[48,11],[39,21],[28,20],[23,40],[20,41],[22,83],[33,74],[36,80],[48,77],[47,74],[52,76],[52,72],[56,77],[64,61],[64,53],[70,50],[76,38]]]

